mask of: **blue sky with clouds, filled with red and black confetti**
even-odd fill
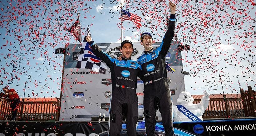
[[[251,1],[174,1],[177,3],[178,41],[190,45],[182,51],[185,88],[192,95],[239,93],[251,85],[255,90],[255,6]],[[96,43],[120,42],[121,6],[142,17],[142,28],[124,22],[123,39],[137,42],[140,32],[151,32],[155,41],[164,36],[168,1],[65,1],[0,2],[0,84],[23,97],[59,97],[63,55],[55,48],[74,44],[63,30],[80,15],[82,32],[90,26]],[[167,9],[167,10],[166,10]]]

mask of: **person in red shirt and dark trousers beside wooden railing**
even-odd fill
[[[11,109],[12,109],[12,118],[10,121],[14,121],[17,118],[17,113],[19,109],[20,97],[14,89],[9,89],[8,87],[4,87],[3,91],[6,95],[8,95],[11,100]]]

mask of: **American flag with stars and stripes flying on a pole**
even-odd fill
[[[130,20],[132,21],[137,28],[141,27],[140,21],[141,21],[141,17],[134,15],[130,12],[127,12],[125,10],[121,10],[121,22],[125,21],[125,20]]]

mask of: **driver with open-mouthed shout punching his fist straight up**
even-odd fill
[[[140,44],[144,46],[144,53],[138,58],[142,67],[142,79],[144,82],[144,117],[147,136],[155,136],[155,114],[157,109],[162,115],[165,136],[173,136],[172,103],[167,72],[165,69],[165,56],[170,48],[175,30],[176,5],[169,2],[171,15],[168,30],[159,47],[153,48],[153,37],[145,32],[140,37]]]

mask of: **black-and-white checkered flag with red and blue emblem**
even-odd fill
[[[88,34],[91,36],[89,26],[87,27],[85,35],[87,36]],[[94,52],[89,45],[89,42],[86,41],[86,36],[84,37],[84,41],[81,46],[76,68],[86,68],[99,72],[101,74],[105,74],[107,70],[107,65],[99,57],[94,55]]]

